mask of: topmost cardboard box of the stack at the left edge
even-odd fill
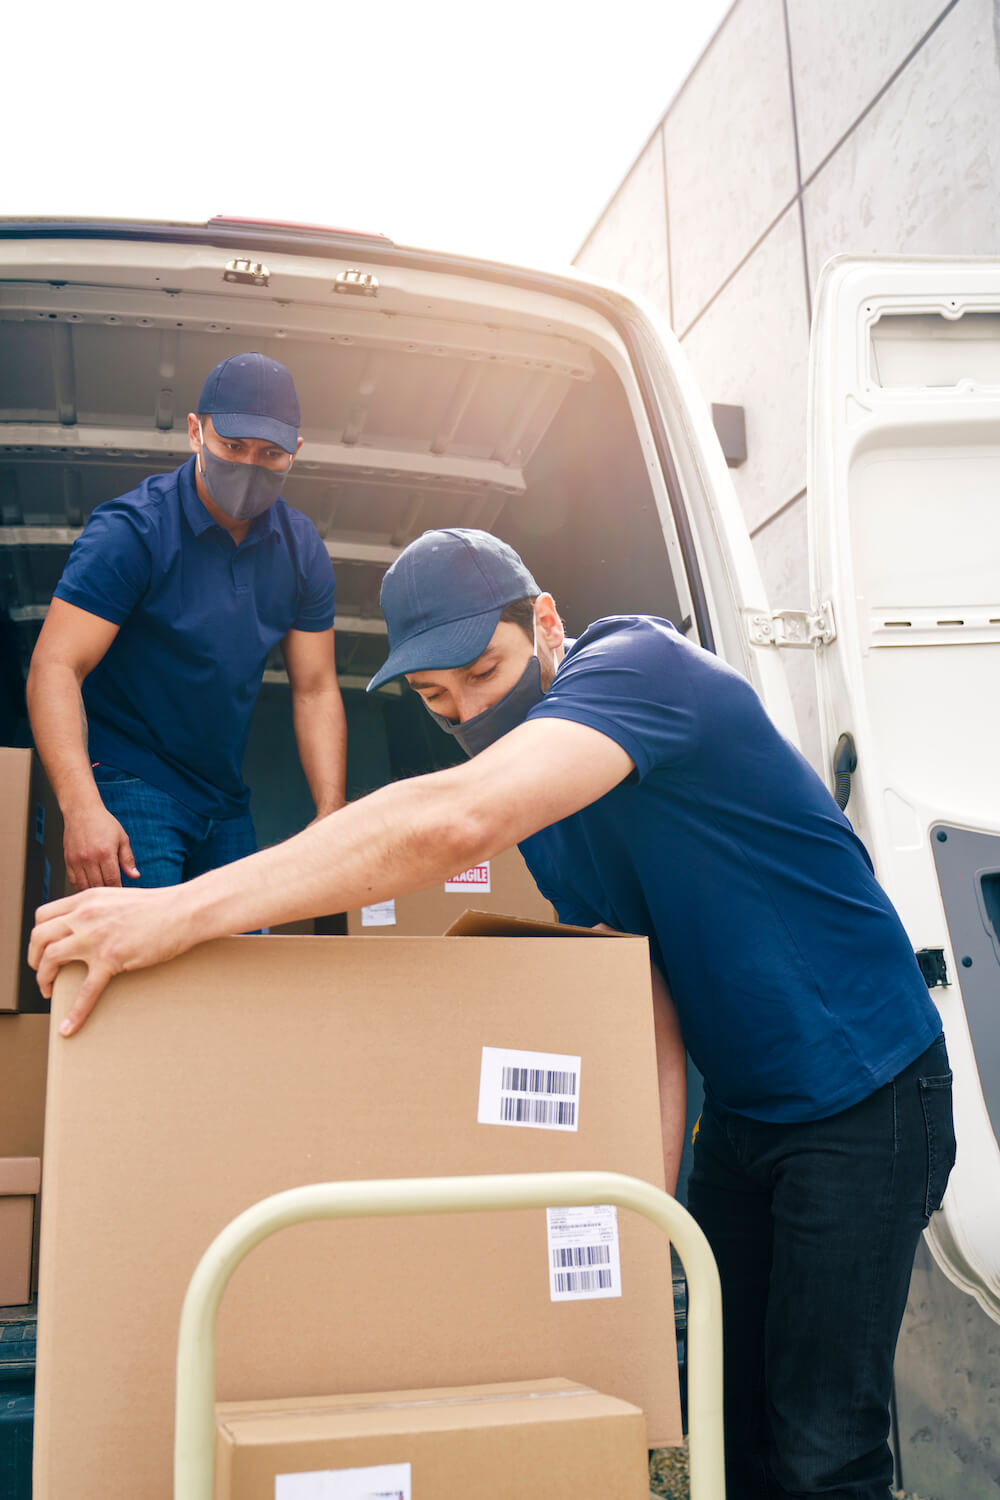
[[[63,819],[31,750],[0,746],[0,1011],[48,1011],[27,945],[34,909],[66,894]]]

